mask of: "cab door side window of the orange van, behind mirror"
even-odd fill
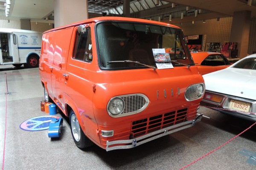
[[[90,28],[86,28],[84,34],[76,34],[73,58],[86,62],[93,60]]]

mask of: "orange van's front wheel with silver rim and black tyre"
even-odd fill
[[[83,149],[93,145],[93,142],[89,138],[87,138],[87,136],[85,136],[73,110],[70,111],[70,128],[74,142],[76,143],[77,147]]]

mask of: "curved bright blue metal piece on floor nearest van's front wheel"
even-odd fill
[[[61,136],[60,126],[63,125],[63,119],[52,119],[49,125],[48,137],[49,138],[59,138]]]

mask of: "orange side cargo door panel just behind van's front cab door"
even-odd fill
[[[65,72],[72,32],[73,27],[55,31],[55,51],[52,64],[52,93],[53,96],[55,96],[55,100],[58,100],[56,104],[63,110],[65,110],[64,84],[68,79],[68,76],[65,76]]]

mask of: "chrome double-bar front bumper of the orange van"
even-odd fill
[[[137,147],[141,144],[144,144],[146,142],[152,141],[154,139],[160,138],[162,136],[166,136],[169,135],[171,133],[177,132],[179,130],[183,130],[186,129],[188,127],[192,127],[195,125],[196,122],[201,121],[202,119],[202,114],[198,115],[195,119],[193,120],[189,120],[183,123],[179,123],[177,125],[173,125],[170,127],[166,127],[164,129],[161,130],[157,130],[154,131],[152,133],[148,133],[144,136],[140,136],[138,138],[134,138],[134,139],[128,139],[128,140],[118,140],[118,141],[107,141],[107,147],[106,150],[110,151],[110,150],[116,150],[116,149],[129,149],[129,148],[133,148],[133,147]],[[117,146],[112,146],[111,145],[116,145],[116,144],[125,144],[125,145],[117,145]]]

